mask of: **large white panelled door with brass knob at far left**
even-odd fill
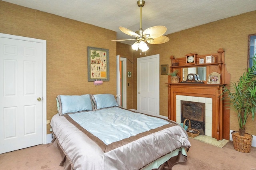
[[[43,46],[0,37],[0,154],[43,143]]]

